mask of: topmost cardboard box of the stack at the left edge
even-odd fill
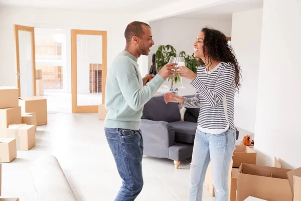
[[[18,107],[19,89],[13,86],[0,86],[0,108]]]

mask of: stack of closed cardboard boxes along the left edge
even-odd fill
[[[17,150],[34,147],[37,126],[46,124],[46,98],[19,98],[17,87],[0,86],[0,162],[11,162]]]

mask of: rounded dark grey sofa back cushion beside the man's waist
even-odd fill
[[[141,119],[152,121],[176,122],[181,114],[178,103],[165,103],[164,94],[153,96],[144,105]]]

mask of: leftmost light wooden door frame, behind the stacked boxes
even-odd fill
[[[16,57],[17,57],[17,85],[19,88],[19,97],[21,96],[21,84],[20,84],[20,54],[19,54],[19,31],[27,31],[31,33],[32,40],[32,65],[33,65],[33,95],[36,95],[36,50],[35,50],[35,28],[22,25],[14,25],[15,32],[15,45],[16,45]]]

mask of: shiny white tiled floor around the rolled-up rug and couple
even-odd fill
[[[17,154],[3,163],[1,197],[37,200],[30,166],[44,154],[57,157],[79,201],[113,200],[121,184],[97,114],[49,114],[48,125],[38,127],[36,146]],[[187,161],[176,170],[172,160],[144,156],[144,187],[136,200],[188,200],[189,169]],[[203,196],[214,200],[206,188]]]

